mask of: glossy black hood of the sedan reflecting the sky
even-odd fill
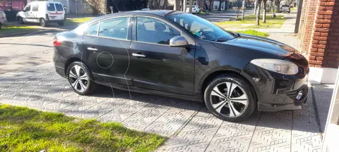
[[[296,51],[291,46],[288,46],[281,42],[277,42],[272,39],[266,39],[263,37],[254,37],[254,36],[247,35],[247,34],[240,34],[239,37],[230,39],[227,42],[222,42],[222,44],[240,46],[240,47],[248,48],[254,51],[263,51],[266,53],[272,53],[277,56],[285,56],[285,57],[292,55],[292,53]]]

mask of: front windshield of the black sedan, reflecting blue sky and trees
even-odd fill
[[[186,28],[186,30],[189,30],[189,32],[200,39],[225,42],[228,39],[237,37],[237,35],[222,30],[222,28],[210,23],[208,20],[189,13],[175,13],[173,15],[168,15],[167,18],[174,20],[174,22]]]

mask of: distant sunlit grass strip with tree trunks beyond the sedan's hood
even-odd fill
[[[266,15],[266,23],[262,23],[262,15],[260,18],[260,25],[256,25],[256,15],[247,15],[244,18],[244,21],[225,21],[220,23],[215,23],[223,28],[280,28],[283,23],[285,23],[286,18],[283,18],[283,15],[277,15],[276,18],[273,18],[272,15]],[[241,18],[241,17],[240,17]]]

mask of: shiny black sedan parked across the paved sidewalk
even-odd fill
[[[308,62],[295,49],[180,11],[93,18],[55,36],[54,65],[77,94],[102,84],[202,101],[227,121],[307,101]]]

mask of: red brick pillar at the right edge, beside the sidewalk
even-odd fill
[[[312,0],[310,1],[302,49],[307,50],[311,66],[338,68],[339,1],[319,0],[318,2],[314,1],[314,3],[312,3]],[[314,7],[315,4],[318,4],[318,6]],[[314,23],[312,23],[312,19]]]

